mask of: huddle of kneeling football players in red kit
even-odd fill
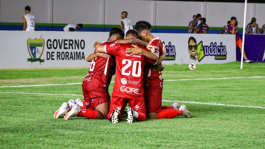
[[[86,59],[91,64],[82,84],[83,102],[71,99],[63,103],[54,118],[65,115],[68,120],[78,116],[117,123],[128,103],[128,123],[145,121],[147,114],[150,119],[191,117],[187,107],[179,107],[178,102],[162,106],[161,62],[166,50],[161,40],[150,33],[151,27],[148,22],[139,21],[135,29],[127,31],[126,39],[120,28],[112,28],[106,42],[100,44],[98,40],[94,53]],[[108,88],[115,73],[110,97]]]

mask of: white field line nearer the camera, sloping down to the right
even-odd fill
[[[0,92],[0,93],[10,93],[10,94],[34,94],[34,95],[65,95],[65,96],[83,96],[77,94],[45,94],[45,93],[22,93],[22,92]],[[162,100],[163,102],[180,102],[180,103],[194,103],[194,104],[208,104],[215,106],[231,106],[231,107],[247,107],[247,108],[260,108],[265,109],[265,107],[256,107],[256,106],[239,106],[233,104],[220,104],[220,103],[204,103],[204,102],[192,102],[192,101],[171,101],[171,100]]]

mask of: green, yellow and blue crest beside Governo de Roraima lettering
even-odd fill
[[[44,59],[41,59],[45,46],[44,43],[45,40],[41,37],[39,39],[37,38],[27,39],[28,52],[30,56],[27,62],[39,62],[39,64],[44,62]]]

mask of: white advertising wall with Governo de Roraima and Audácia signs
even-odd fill
[[[236,60],[235,35],[154,33],[165,43],[162,64],[214,64]],[[93,45],[107,32],[0,31],[0,68],[87,67]]]

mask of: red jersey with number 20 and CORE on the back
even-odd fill
[[[131,47],[131,44],[118,43],[105,45],[105,53],[113,54],[116,57],[116,77],[112,95],[128,99],[144,99],[142,82],[144,64],[147,61],[155,64],[156,61],[148,59],[142,54],[130,56],[125,50]],[[149,51],[142,46],[139,47]]]

